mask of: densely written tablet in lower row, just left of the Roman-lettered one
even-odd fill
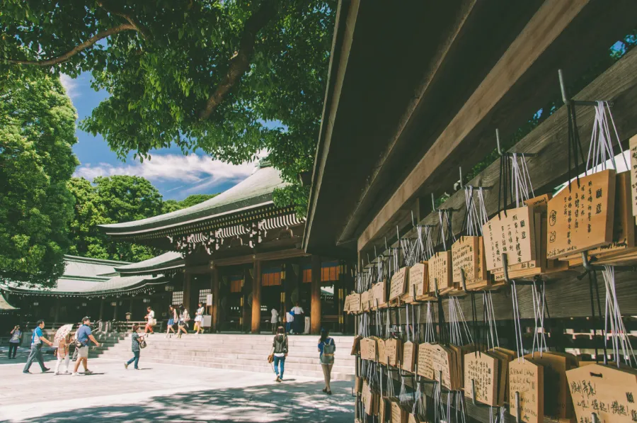
[[[473,397],[473,387],[476,387],[476,401],[483,404],[498,406],[498,385],[500,374],[497,358],[486,353],[469,353],[464,355],[464,392],[467,397]],[[471,383],[474,380],[474,383]]]

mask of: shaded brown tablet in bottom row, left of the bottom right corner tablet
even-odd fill
[[[527,354],[534,363],[544,368],[544,414],[561,419],[570,419],[573,414],[573,401],[568,393],[566,372],[577,368],[578,360],[571,354],[544,352]]]

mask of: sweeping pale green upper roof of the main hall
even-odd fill
[[[172,213],[132,222],[99,225],[108,235],[138,236],[156,230],[167,230],[192,222],[272,204],[272,193],[285,186],[280,172],[272,167],[258,167],[248,178],[208,201]]]

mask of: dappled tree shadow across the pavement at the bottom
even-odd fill
[[[351,382],[282,383],[152,396],[132,405],[108,405],[43,414],[22,422],[329,422],[351,423]],[[140,386],[140,390],[148,387]]]

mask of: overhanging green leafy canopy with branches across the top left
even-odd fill
[[[201,148],[226,162],[270,152],[307,190],[326,88],[335,0],[7,0],[0,77],[44,68],[92,72],[103,101],[81,127],[120,157]],[[16,70],[17,69],[17,70]],[[267,128],[278,121],[280,128]]]

